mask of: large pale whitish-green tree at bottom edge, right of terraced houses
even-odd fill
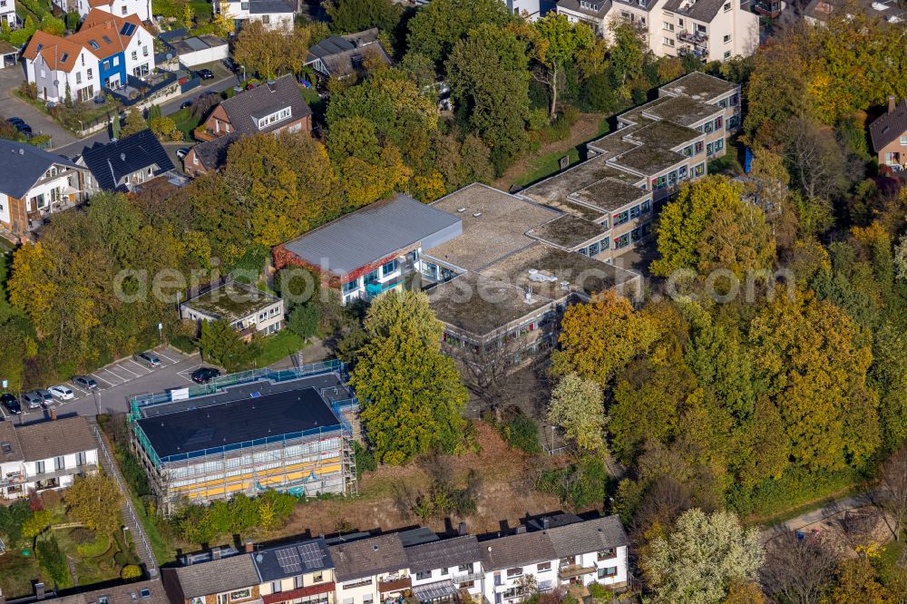
[[[756,580],[764,559],[756,528],[744,530],[727,511],[693,509],[652,542],[641,564],[659,599],[711,604],[727,597],[732,582]]]

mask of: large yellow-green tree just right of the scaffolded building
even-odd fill
[[[453,359],[441,353],[444,327],[421,293],[377,298],[365,321],[350,384],[375,457],[401,464],[436,450],[452,453],[463,437],[468,394]]]

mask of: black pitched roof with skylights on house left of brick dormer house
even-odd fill
[[[173,170],[170,156],[150,130],[107,144],[96,142],[83,151],[82,159],[102,190],[116,189],[124,177],[139,170],[154,168],[155,176]]]

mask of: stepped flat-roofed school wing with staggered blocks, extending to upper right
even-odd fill
[[[649,239],[658,209],[726,153],[740,128],[740,87],[690,73],[617,122],[616,131],[588,143],[589,160],[516,193],[599,225],[597,245],[579,251],[606,263]]]

